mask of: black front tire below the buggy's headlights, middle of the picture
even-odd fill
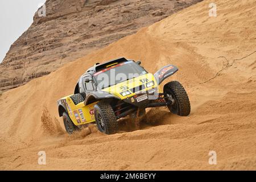
[[[106,102],[98,102],[94,105],[94,117],[98,127],[102,133],[115,134],[118,131],[118,122],[115,113]]]

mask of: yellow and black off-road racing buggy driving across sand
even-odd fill
[[[178,81],[168,82],[158,93],[163,80],[177,71],[166,65],[152,75],[141,61],[125,58],[96,63],[79,78],[74,94],[57,101],[59,116],[69,134],[92,122],[102,133],[117,133],[118,119],[139,118],[147,107],[167,106],[171,113],[187,116],[189,98]]]

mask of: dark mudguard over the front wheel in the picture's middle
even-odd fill
[[[114,96],[108,92],[104,92],[104,91],[92,92],[92,93],[89,93],[88,96],[86,96],[84,105],[92,104],[93,102],[97,102],[98,100],[105,99],[105,98],[119,99],[119,97]]]

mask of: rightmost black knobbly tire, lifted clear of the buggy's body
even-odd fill
[[[168,105],[168,109],[177,115],[187,116],[190,114],[191,106],[188,94],[179,81],[171,81],[164,85],[164,96],[170,96],[174,99],[173,105]],[[168,99],[166,99],[168,101]]]

